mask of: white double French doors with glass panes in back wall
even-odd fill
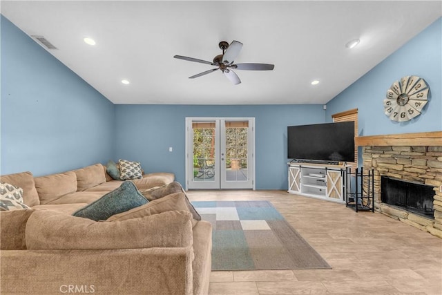
[[[186,118],[186,189],[255,189],[254,118]]]

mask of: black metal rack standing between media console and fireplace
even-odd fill
[[[352,173],[352,169],[347,167],[346,172],[345,207],[353,207],[356,212],[374,212],[374,170],[364,171],[363,168],[356,168]]]

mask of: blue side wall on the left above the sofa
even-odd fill
[[[115,106],[8,19],[0,21],[1,174],[106,163]]]

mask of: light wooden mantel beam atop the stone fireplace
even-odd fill
[[[356,146],[442,146],[442,131],[354,137]]]

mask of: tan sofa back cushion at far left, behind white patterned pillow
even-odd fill
[[[23,189],[23,203],[29,207],[40,204],[39,194],[35,189],[35,180],[31,172],[1,175],[1,180]]]

